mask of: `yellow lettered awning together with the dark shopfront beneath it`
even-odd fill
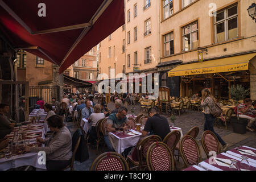
[[[204,62],[181,64],[168,72],[168,77],[180,76],[180,95],[192,94],[209,88],[214,97],[230,99],[230,86],[241,84],[250,88],[250,74],[254,75],[256,53],[224,57]],[[251,67],[251,69],[250,69]],[[250,71],[252,70],[252,71]],[[251,72],[251,73],[250,73]]]

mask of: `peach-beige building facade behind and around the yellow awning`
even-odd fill
[[[212,90],[214,96],[228,99],[230,86],[241,84],[245,88],[250,87],[251,98],[255,100],[256,23],[247,13],[248,7],[253,2],[253,0],[159,0],[162,66],[158,69],[162,86],[174,81],[176,88],[179,89],[179,94],[175,94],[189,97],[206,88],[206,82],[209,82],[208,88]],[[214,7],[216,7],[214,11],[216,17],[212,14]],[[192,63],[198,62],[199,49],[204,50],[203,61],[218,59],[220,64],[222,58],[232,57],[236,60],[238,55],[250,54],[252,56],[249,57],[252,58],[246,60],[250,61],[249,70],[225,72],[220,75],[211,73],[167,76],[170,68],[173,69],[180,63],[187,64],[189,69]]]

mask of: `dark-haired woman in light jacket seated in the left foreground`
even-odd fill
[[[36,138],[45,147],[25,147],[28,152],[46,152],[46,168],[48,171],[61,170],[71,163],[72,158],[72,137],[70,131],[64,126],[59,115],[52,115],[47,119],[48,126],[53,132],[52,137],[44,140]]]

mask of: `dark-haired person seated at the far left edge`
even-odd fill
[[[8,114],[9,110],[9,105],[0,104],[0,139],[10,134],[16,124],[15,121],[6,117],[5,114]]]

